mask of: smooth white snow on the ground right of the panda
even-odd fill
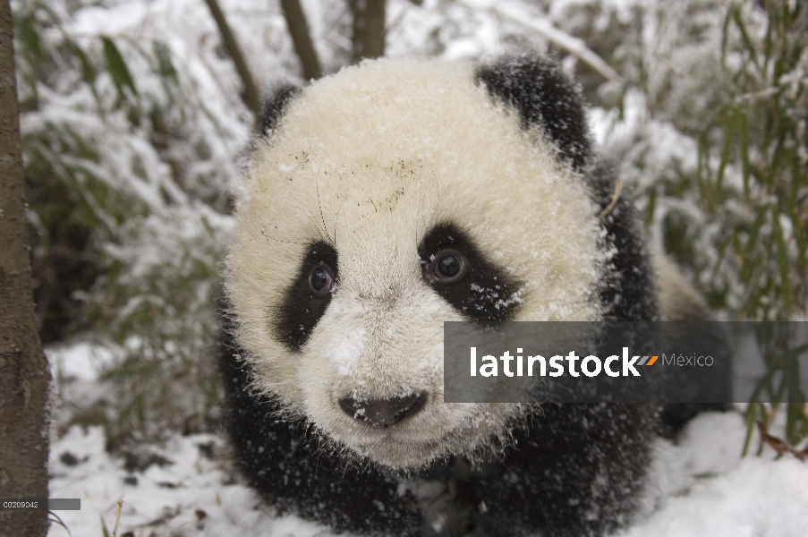
[[[621,537],[804,536],[808,465],[794,457],[741,457],[746,429],[737,413],[705,413],[679,445],[658,442],[652,482],[659,494],[647,519]]]

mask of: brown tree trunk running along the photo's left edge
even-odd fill
[[[12,13],[0,0],[0,498],[47,499],[50,371],[31,294]],[[0,510],[0,536],[47,533],[47,510]]]

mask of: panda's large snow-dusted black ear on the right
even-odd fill
[[[575,170],[591,161],[581,91],[555,61],[510,56],[481,66],[476,74],[492,97],[519,112],[524,129],[539,126]]]

